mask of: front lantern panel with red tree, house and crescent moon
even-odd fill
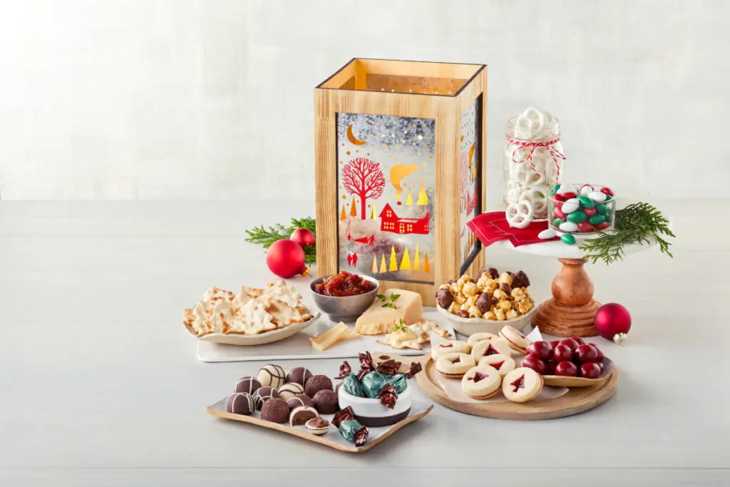
[[[337,114],[339,269],[434,283],[435,123]]]

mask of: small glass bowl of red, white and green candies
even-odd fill
[[[549,198],[550,226],[538,237],[551,239],[561,234],[564,243],[575,245],[574,234],[609,229],[614,218],[614,203],[609,203],[613,196],[611,188],[605,186],[584,184],[576,189],[569,183],[556,185]]]

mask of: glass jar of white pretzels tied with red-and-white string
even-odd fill
[[[533,221],[545,221],[550,189],[560,183],[565,160],[558,119],[529,108],[510,118],[505,136],[504,203],[529,202]]]

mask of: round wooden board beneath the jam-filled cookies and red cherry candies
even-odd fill
[[[556,399],[545,399],[525,403],[516,402],[460,402],[451,399],[436,380],[433,359],[424,362],[423,372],[416,375],[418,386],[434,401],[461,413],[494,419],[515,419],[533,421],[537,419],[563,418],[583,413],[609,399],[618,386],[618,369],[615,367],[598,386],[572,388]]]

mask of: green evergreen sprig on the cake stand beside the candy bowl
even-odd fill
[[[669,221],[652,205],[643,202],[629,204],[626,208],[616,210],[614,218],[616,221],[611,233],[600,232],[601,237],[585,240],[580,245],[584,258],[593,264],[597,261],[611,264],[623,260],[625,245],[651,245],[652,239],[656,240],[662,253],[673,257],[669,252],[672,244],[662,236],[675,237],[675,234],[667,225]]]

